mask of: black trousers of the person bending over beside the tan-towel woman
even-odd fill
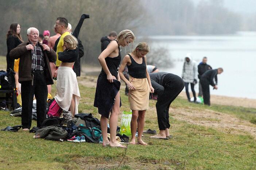
[[[175,74],[166,74],[163,80],[164,92],[156,102],[156,112],[159,130],[170,128],[169,108],[174,99],[184,88],[184,81]]]

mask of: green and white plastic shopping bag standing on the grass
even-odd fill
[[[120,134],[130,136],[131,133],[131,120],[132,120],[132,110],[130,112],[123,111],[121,119]]]

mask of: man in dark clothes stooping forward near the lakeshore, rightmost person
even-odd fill
[[[203,102],[205,105],[210,106],[210,88],[209,85],[213,86],[213,89],[218,89],[217,86],[217,74],[221,74],[223,72],[222,68],[214,69],[214,70],[208,70],[201,76],[200,84],[202,85],[202,91],[203,91]],[[215,78],[215,83],[213,81],[213,78]]]

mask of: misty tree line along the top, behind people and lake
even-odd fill
[[[85,49],[82,64],[98,64],[100,39],[110,31],[131,29],[137,37],[231,34],[241,29],[255,30],[252,25],[248,28],[248,23],[256,25],[256,16],[253,20],[230,12],[222,7],[221,0],[202,0],[197,6],[190,0],[1,0],[0,11],[3,56],[7,53],[6,33],[11,23],[20,23],[26,41],[29,27],[38,28],[40,33],[49,30],[53,36],[57,17],[66,17],[74,29],[81,14],[89,14],[90,19],[85,20],[79,34]],[[127,52],[130,49],[122,51]]]

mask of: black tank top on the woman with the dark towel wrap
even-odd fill
[[[117,42],[117,40],[115,40]],[[120,54],[120,47],[118,46],[118,56],[117,57],[106,57],[105,58],[106,65],[108,66],[109,72],[112,76],[115,76],[117,79],[117,73],[119,70],[120,62],[121,62],[121,54]],[[99,76],[106,75],[103,68],[101,68],[101,72]]]

